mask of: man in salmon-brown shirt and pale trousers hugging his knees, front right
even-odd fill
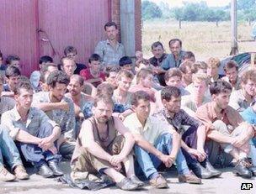
[[[210,86],[212,102],[197,109],[196,118],[208,126],[207,137],[220,144],[225,153],[232,155],[237,164],[233,172],[239,176],[251,178],[255,169],[248,162],[249,140],[254,136],[253,126],[243,122],[243,118],[228,106],[232,86],[227,81],[215,81]],[[212,146],[214,148],[214,146]],[[229,165],[232,159],[225,160],[219,148],[210,149],[209,159],[214,165],[217,158],[222,158],[221,165]]]

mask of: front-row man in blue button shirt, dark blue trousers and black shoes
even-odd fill
[[[3,113],[1,123],[40,176],[61,176],[63,173],[57,165],[59,155],[56,155],[60,127],[40,109],[31,107],[33,88],[29,82],[19,82],[13,92],[16,106]]]

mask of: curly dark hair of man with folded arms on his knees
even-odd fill
[[[56,83],[65,84],[67,86],[69,78],[63,71],[53,71],[47,77],[46,83],[52,88],[56,87]]]

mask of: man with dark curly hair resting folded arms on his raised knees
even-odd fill
[[[39,107],[51,120],[60,125],[61,137],[58,139],[60,153],[63,157],[70,159],[74,146],[64,143],[74,136],[76,119],[72,100],[64,96],[69,78],[62,71],[53,71],[47,77],[46,83],[49,92],[35,93],[33,106]]]

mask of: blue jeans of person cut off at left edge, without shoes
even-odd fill
[[[19,150],[17,149],[13,139],[9,136],[8,130],[0,125],[0,165],[3,165],[3,158],[12,168],[16,165],[22,165],[19,157]]]

